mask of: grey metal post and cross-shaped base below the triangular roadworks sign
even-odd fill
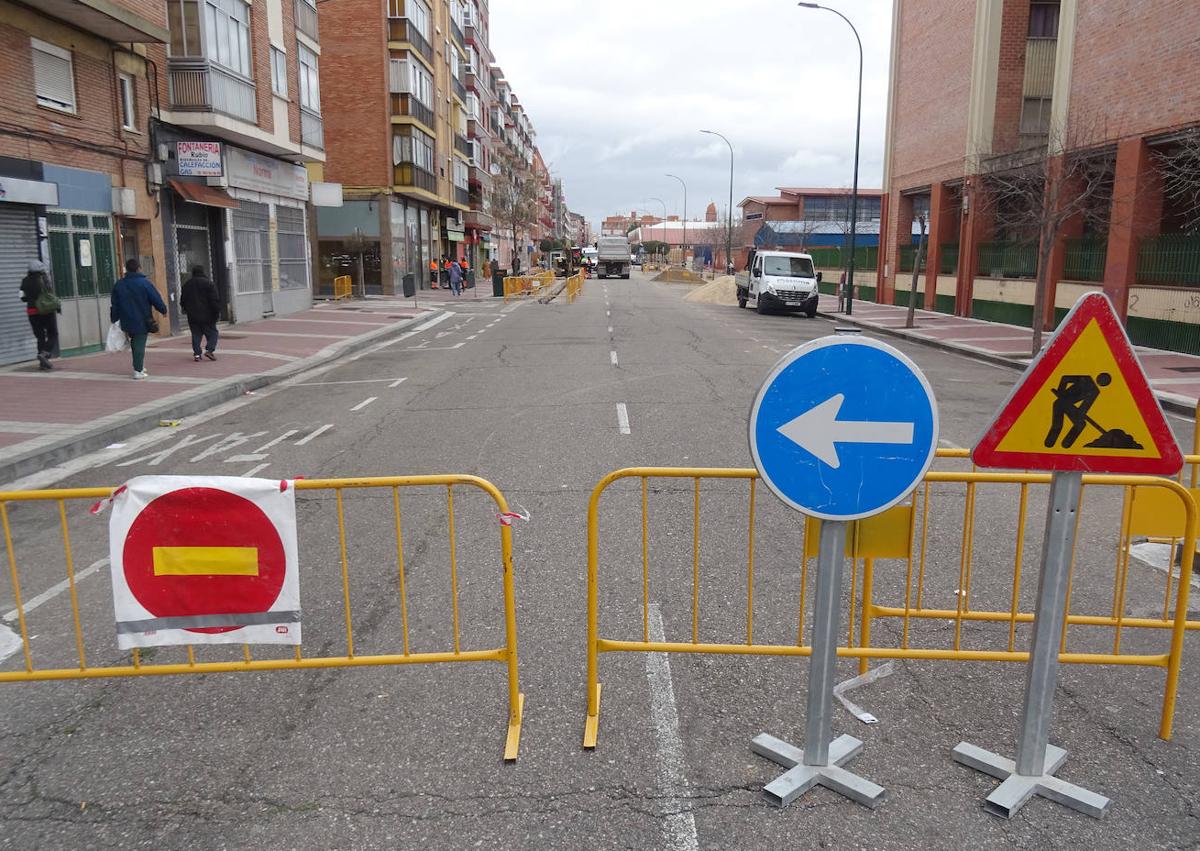
[[[1082,473],[1055,473],[1046,510],[1042,575],[1033,617],[1033,649],[1025,681],[1025,711],[1016,744],[1016,762],[967,742],[954,748],[954,761],[1003,780],[988,796],[984,809],[1010,819],[1034,795],[1056,801],[1091,816],[1103,816],[1110,801],[1054,777],[1067,761],[1067,751],[1050,744],[1054,690],[1058,681],[1058,646],[1067,618],[1070,556],[1079,525]]]

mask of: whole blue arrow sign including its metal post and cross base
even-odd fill
[[[832,336],[784,356],[750,412],[750,455],[766,485],[818,517],[805,748],[762,733],[750,749],[787,773],[763,791],[786,805],[826,786],[875,808],[882,786],[842,768],[863,750],[833,738],[846,523],[886,511],[925,475],[937,447],[937,402],[916,364],[878,340]]]

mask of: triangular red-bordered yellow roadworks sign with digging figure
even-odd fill
[[[1081,298],[971,454],[979,467],[1174,475],[1183,456],[1103,293]]]

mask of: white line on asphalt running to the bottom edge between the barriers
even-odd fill
[[[659,604],[649,606],[650,641],[666,641]],[[658,750],[659,787],[666,797],[662,820],[664,847],[672,851],[698,851],[696,816],[691,810],[677,811],[686,799],[688,777],[684,772],[683,739],[679,738],[679,711],[676,708],[671,661],[666,653],[648,653],[646,678],[650,683],[650,720]]]

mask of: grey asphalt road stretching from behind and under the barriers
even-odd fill
[[[769,657],[605,654],[599,747],[584,719],[586,514],[594,484],[641,465],[749,466],[745,420],[769,367],[833,323],[684,302],[684,286],[587,283],[574,305],[454,305],[454,316],[353,360],[134,438],[77,466],[61,486],[133,475],[265,478],[470,473],[494,483],[528,522],[514,527],[521,688],[520,759],[502,761],[503,669],[491,663],[212,676],[16,683],[0,687],[0,847],[1194,847],[1200,844],[1200,673],[1184,666],[1175,737],[1156,737],[1160,671],[1067,666],[1051,742],[1060,772],[1114,798],[1103,821],[1045,799],[1001,821],[982,808],[996,781],[950,761],[970,741],[1012,755],[1024,688],[1013,664],[901,661],[850,693],[878,717],[835,708],[834,731],[865,742],[848,767],[883,785],[875,811],[826,790],[786,809],[762,795],[779,769],[750,751],[763,731],[803,744],[806,661]],[[967,447],[1016,372],[900,346],[930,378],[944,445]],[[199,367],[198,367],[199,368]],[[1184,443],[1190,425],[1172,418]],[[329,427],[326,427],[329,426]],[[954,468],[943,463],[944,468]],[[961,468],[961,465],[959,466]],[[1105,613],[1120,493],[1085,499],[1074,611]],[[1032,606],[1044,492],[1030,497],[1020,599]],[[1012,595],[1018,491],[980,489],[971,604]],[[601,501],[601,635],[688,641],[695,509],[690,480],[655,481],[649,597],[643,609],[641,491]],[[930,502],[926,605],[954,609],[961,486]],[[413,651],[454,640],[444,489],[401,493]],[[746,634],[745,483],[704,483],[700,497],[703,641]],[[346,649],[335,504],[301,493],[305,654]],[[346,497],[355,651],[398,653],[403,618],[390,491]],[[461,645],[503,641],[494,508],[455,490]],[[78,664],[53,504],[11,511],[34,661]],[[107,521],[72,504],[82,636],[91,665],[124,664],[115,646]],[[754,639],[796,640],[800,523],[764,489],[755,532]],[[877,565],[876,599],[902,601],[905,562]],[[847,571],[848,573],[848,571]],[[1162,607],[1164,574],[1134,561],[1126,610]],[[0,579],[0,616],[12,588]],[[643,622],[643,615],[646,621]],[[13,618],[0,619],[0,670],[19,670]],[[847,627],[848,628],[848,627]],[[5,629],[7,641],[5,643]],[[955,627],[914,625],[914,646],[946,647]],[[961,628],[966,647],[1003,647],[1008,624]],[[1072,648],[1110,634],[1073,629]],[[880,643],[899,641],[878,622]],[[1027,631],[1018,631],[1024,647]],[[1195,639],[1189,651],[1195,652]],[[1127,630],[1126,652],[1165,636]],[[16,652],[14,652],[16,651]],[[202,648],[238,659],[240,648]],[[256,658],[286,655],[256,648]],[[184,660],[167,648],[154,661]],[[877,666],[877,664],[876,664]],[[840,679],[857,672],[840,663]]]

